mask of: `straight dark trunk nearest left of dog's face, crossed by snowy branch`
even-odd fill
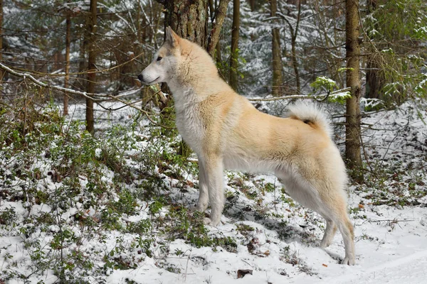
[[[97,0],[90,0],[90,16],[88,18],[88,84],[86,85],[86,92],[95,93],[95,80],[96,80],[96,14]],[[86,130],[90,134],[95,133],[94,119],[93,119],[93,99],[86,99]]]

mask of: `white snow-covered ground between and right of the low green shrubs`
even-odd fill
[[[136,112],[124,110],[98,111],[103,114],[98,128],[106,129],[119,121],[130,124]],[[421,116],[425,119],[425,108],[423,111]],[[83,109],[78,106],[71,113],[81,117]],[[104,275],[81,275],[88,283],[427,283],[427,128],[419,114],[419,108],[406,103],[397,110],[364,117],[364,124],[370,128],[364,131],[364,158],[369,168],[365,175],[367,182],[348,189],[350,218],[355,229],[355,266],[339,264],[344,256],[339,232],[330,247],[320,249],[324,220],[292,202],[274,176],[226,173],[226,211],[219,226],[206,228],[209,236],[230,237],[233,241],[228,245],[198,248],[184,239],[169,241],[159,236],[150,243],[152,254],[144,254],[132,246],[141,234],[108,229],[88,237],[83,226],[75,222],[76,213],[83,210],[76,202],[59,214],[60,219],[65,220],[63,227],[52,224],[43,229],[40,226],[26,235],[17,229],[19,224],[0,226],[0,270],[3,271],[0,283],[58,282],[51,266],[46,271],[36,271],[37,251],[28,244],[37,242],[38,252],[57,256],[50,246],[56,233],[66,226],[75,236],[84,237],[79,240],[80,244],[66,248],[63,245],[64,255],[81,252],[93,261],[95,268],[102,267],[111,252],[132,258],[132,263],[136,263],[129,269],[106,268]],[[141,153],[147,151],[147,147],[147,141],[137,142]],[[130,151],[126,158],[130,160],[129,157],[136,154],[135,150]],[[46,168],[46,172],[48,170]],[[375,174],[378,170],[382,172]],[[174,206],[194,205],[198,182],[191,171],[178,170],[184,183],[167,171],[157,171],[163,185],[161,192]],[[0,210],[14,208],[19,222],[54,211],[43,203],[28,207],[21,200],[11,200],[8,190],[14,187],[6,186],[5,176],[0,180],[0,186],[4,186]],[[112,175],[106,175],[105,180],[112,185]],[[40,188],[46,190],[54,190],[60,184],[53,181],[51,175],[46,175],[44,182],[46,185]],[[87,182],[82,177],[83,187]],[[136,183],[129,187],[136,187]],[[137,212],[124,214],[120,222],[137,224],[153,218],[152,204],[153,200],[138,200]],[[164,207],[154,215],[163,218],[162,222],[173,224],[167,210]],[[95,219],[98,212],[91,207],[85,214]],[[155,231],[153,225],[150,234],[156,236]],[[99,236],[102,238],[98,239]],[[116,249],[119,247],[120,251]],[[88,268],[86,273],[95,268]],[[251,270],[252,274],[238,278],[239,270]]]

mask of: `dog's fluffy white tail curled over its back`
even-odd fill
[[[308,102],[297,102],[295,104],[291,104],[288,109],[288,116],[291,119],[299,119],[300,121],[304,121],[306,124],[314,124],[322,131],[325,131],[327,136],[332,138],[330,120],[327,119],[325,112],[317,107],[317,105]]]

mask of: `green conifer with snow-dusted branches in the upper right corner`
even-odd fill
[[[427,93],[422,84],[426,9],[426,1],[421,0],[367,1],[363,31],[368,98],[381,99],[390,106]]]

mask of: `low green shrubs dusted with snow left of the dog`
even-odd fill
[[[22,247],[0,248],[0,283],[52,274],[60,283],[102,283],[115,269],[165,258],[175,239],[236,251],[236,241],[210,234],[204,216],[169,196],[165,177],[184,188],[197,175],[174,155],[176,131],[135,119],[93,137],[53,106],[24,111],[17,102],[1,112],[0,236]]]

